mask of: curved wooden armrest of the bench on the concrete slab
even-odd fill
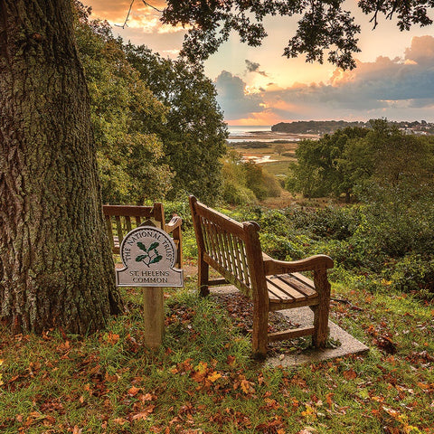
[[[333,269],[333,259],[326,255],[315,255],[300,260],[277,260],[264,258],[265,275],[314,271],[317,269]]]

